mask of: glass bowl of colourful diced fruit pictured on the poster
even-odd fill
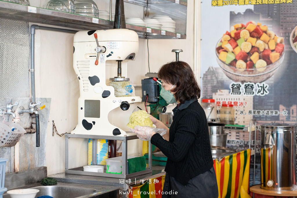
[[[261,23],[238,23],[216,45],[216,59],[234,82],[261,83],[277,71],[285,57],[284,38]]]

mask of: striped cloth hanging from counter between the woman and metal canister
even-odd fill
[[[219,198],[250,198],[249,163],[251,150],[245,150],[214,160]]]

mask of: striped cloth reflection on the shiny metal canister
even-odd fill
[[[261,148],[261,183],[272,178],[272,150],[271,148]],[[263,170],[265,169],[265,170]],[[265,178],[265,180],[263,180]]]

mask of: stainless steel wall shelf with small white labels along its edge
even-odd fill
[[[33,11],[33,12],[32,12]],[[35,12],[36,11],[36,12]],[[58,12],[38,7],[30,7],[10,2],[0,1],[0,18],[41,23],[80,30],[112,29],[113,21],[99,19],[94,23],[92,17]],[[127,24],[128,29],[134,30],[143,39],[185,39],[186,35],[174,32],[151,29]],[[151,31],[151,32],[150,32]],[[165,34],[165,35],[164,35]]]

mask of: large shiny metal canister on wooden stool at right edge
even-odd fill
[[[261,188],[292,190],[296,185],[296,125],[261,125]]]

